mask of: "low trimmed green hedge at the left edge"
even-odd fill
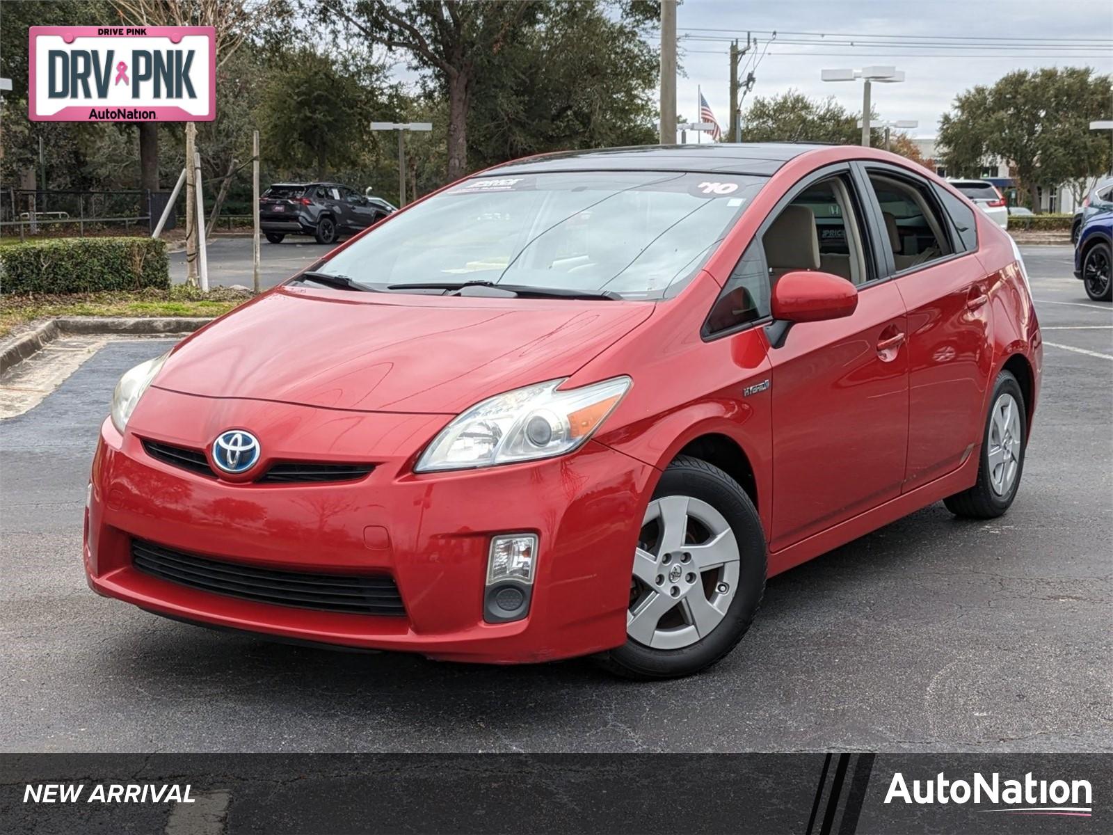
[[[169,286],[169,262],[162,240],[52,238],[0,247],[0,292],[6,294]]]

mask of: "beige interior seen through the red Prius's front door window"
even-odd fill
[[[802,202],[809,205],[801,205]],[[826,205],[830,216],[841,218],[847,253],[830,252],[833,247],[820,244],[819,227],[812,206]],[[837,226],[826,225],[826,229]],[[867,281],[860,226],[854,212],[846,184],[831,177],[808,187],[780,213],[761,238],[770,284],[785,273],[796,269],[815,269],[846,278],[853,284]],[[825,249],[827,249],[825,252]]]

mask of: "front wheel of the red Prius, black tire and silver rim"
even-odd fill
[[[680,505],[683,499],[687,501]],[[683,536],[673,540],[666,531],[677,529],[669,528],[666,519],[676,518],[676,513],[666,509],[677,507],[683,508],[680,511]],[[650,538],[654,537],[656,541],[651,542]],[[669,550],[669,541],[681,544]],[[712,542],[717,544],[706,544],[706,551],[700,547]],[[677,559],[669,559],[668,564],[663,564],[660,561],[666,559],[666,553],[676,553]],[[713,562],[719,558],[717,554],[737,556],[729,557],[721,567],[698,569],[700,560]],[[637,562],[642,559],[649,561]],[[640,528],[634,560],[631,607],[643,618],[649,616],[650,620],[634,626],[638,618],[636,611],[631,611],[627,642],[598,657],[603,667],[624,678],[678,678],[707,669],[746,635],[765,593],[766,539],[757,510],[738,482],[700,459],[678,458],[661,475]],[[691,568],[697,570],[689,571]],[[639,572],[646,576],[644,580]],[[732,591],[730,582],[733,582]],[[686,590],[676,597],[679,588]],[[677,602],[671,608],[661,608],[669,607],[673,597]],[[720,608],[711,601],[718,601]],[[692,606],[698,607],[699,618],[692,615]],[[657,611],[662,613],[657,615]],[[649,642],[644,640],[647,623],[652,625]],[[706,633],[701,626],[707,629]],[[637,640],[634,631],[640,632],[643,640]],[[669,647],[669,644],[676,646]]]

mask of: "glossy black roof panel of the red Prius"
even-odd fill
[[[506,163],[483,177],[538,171],[650,170],[769,176],[785,163],[829,145],[799,143],[708,143],[707,145],[636,145],[629,148],[569,150]]]

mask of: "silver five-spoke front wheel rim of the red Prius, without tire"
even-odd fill
[[[696,644],[722,622],[738,577],[738,542],[718,510],[687,495],[651,501],[634,551],[627,635],[653,649]]]

